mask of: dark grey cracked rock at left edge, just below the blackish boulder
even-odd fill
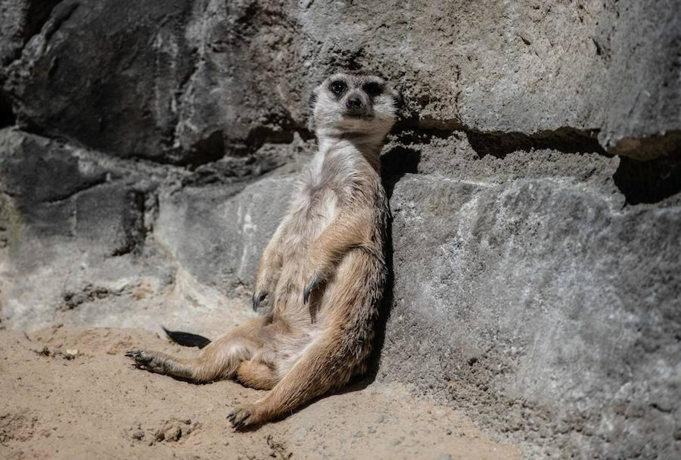
[[[12,129],[0,131],[0,147],[0,189],[12,197],[25,230],[75,237],[82,249],[106,255],[142,244],[149,185],[129,185],[116,179],[120,171],[107,170],[78,149]]]

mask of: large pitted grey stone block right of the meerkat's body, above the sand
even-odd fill
[[[391,208],[394,303],[382,352],[390,379],[407,376],[429,393],[440,382],[436,393],[489,416],[516,397],[530,403],[528,418],[580,414],[621,439],[608,453],[651,452],[645,435],[621,431],[644,433],[650,419],[622,407],[678,396],[665,375],[678,352],[681,207],[622,212],[597,189],[554,179],[490,185],[407,174]],[[667,319],[651,321],[650,311]],[[636,369],[626,386],[622,366]],[[673,429],[669,418],[654,423]]]

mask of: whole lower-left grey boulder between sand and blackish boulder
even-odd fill
[[[189,172],[0,129],[0,320],[153,327],[187,320],[187,305],[245,310],[233,299],[287,207],[302,145],[264,145],[291,163],[248,185],[219,162]]]

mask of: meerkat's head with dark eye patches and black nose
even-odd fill
[[[317,132],[385,136],[395,123],[401,97],[375,75],[340,73],[313,91],[310,105]]]

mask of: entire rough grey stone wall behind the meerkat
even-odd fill
[[[680,455],[681,1],[0,0],[0,19],[2,324],[246,308],[315,148],[309,89],[362,68],[407,103],[375,378],[537,457]]]

